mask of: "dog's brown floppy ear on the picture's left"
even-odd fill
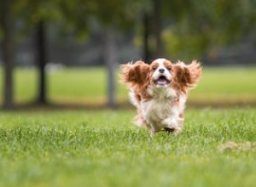
[[[121,82],[143,84],[148,81],[149,65],[139,60],[135,64],[120,65]]]

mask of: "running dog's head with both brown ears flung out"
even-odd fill
[[[120,65],[121,81],[129,83],[131,87],[155,88],[172,87],[186,93],[189,88],[195,88],[201,78],[201,66],[197,61],[185,65],[178,61],[173,64],[167,59],[155,59],[150,65],[143,61],[135,64]]]

